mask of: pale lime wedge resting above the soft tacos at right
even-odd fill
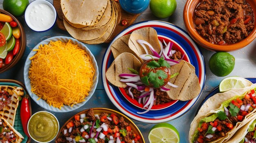
[[[227,77],[220,82],[220,92],[225,92],[235,88],[245,88],[251,86],[252,82],[243,77]]]

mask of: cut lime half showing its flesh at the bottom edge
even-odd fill
[[[150,143],[179,143],[180,134],[173,125],[159,123],[150,130],[148,140]]]

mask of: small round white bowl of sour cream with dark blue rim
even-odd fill
[[[52,28],[56,21],[56,10],[47,0],[31,2],[25,11],[25,21],[30,29],[45,32]]]

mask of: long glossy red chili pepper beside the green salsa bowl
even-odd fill
[[[25,95],[23,97],[23,99],[21,100],[21,105],[20,105],[20,114],[22,116],[20,116],[20,120],[22,123],[22,127],[23,127],[23,131],[24,133],[29,136],[29,133],[27,131],[27,123],[29,122],[29,118],[30,118],[30,108],[29,108],[29,99],[28,99],[28,95]]]

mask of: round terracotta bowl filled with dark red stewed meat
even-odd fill
[[[183,19],[189,35],[211,51],[234,51],[256,37],[256,0],[188,0]]]

